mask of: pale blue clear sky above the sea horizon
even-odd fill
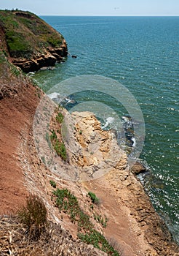
[[[0,9],[36,15],[178,16],[179,0],[0,0]]]

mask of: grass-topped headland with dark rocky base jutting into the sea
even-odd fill
[[[23,72],[54,66],[68,55],[63,36],[31,12],[0,11],[0,50]]]

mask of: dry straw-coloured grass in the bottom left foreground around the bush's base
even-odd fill
[[[0,217],[0,255],[105,255],[93,246],[87,246],[71,235],[60,225],[48,222],[39,239],[31,240],[25,225],[19,222],[17,215]]]

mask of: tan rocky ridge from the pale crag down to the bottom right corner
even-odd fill
[[[84,182],[84,187],[95,192],[103,213],[108,214],[106,237],[112,236],[118,241],[122,255],[178,255],[170,231],[133,174],[144,171],[144,167],[135,163],[130,170],[127,156],[117,146],[116,138],[100,128],[92,113],[75,112],[71,116],[68,126],[74,129],[68,134],[70,140],[65,140],[70,156],[68,165],[79,166],[86,175],[82,176],[84,179],[87,175],[93,177],[90,182]],[[103,175],[95,179],[95,171],[103,167]]]

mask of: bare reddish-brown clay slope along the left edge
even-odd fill
[[[2,80],[0,89],[3,89]],[[17,79],[13,79],[12,87],[6,88],[4,96],[1,94],[1,97],[0,214],[5,214],[15,211],[28,195],[24,187],[23,170],[19,164],[18,148],[21,140],[28,137],[39,97],[36,95],[36,88]]]

